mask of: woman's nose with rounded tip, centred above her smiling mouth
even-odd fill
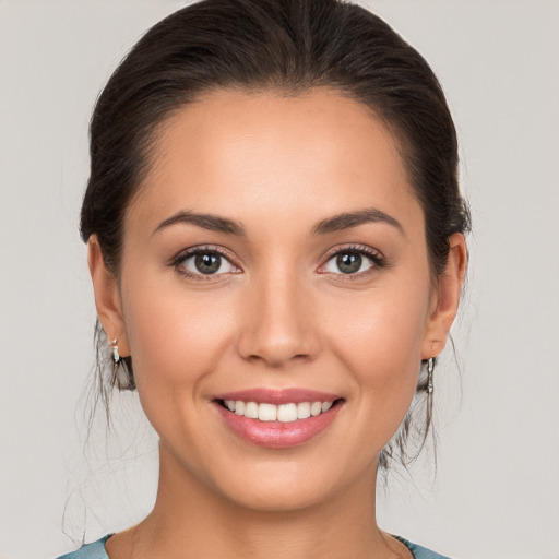
[[[309,289],[295,273],[270,276],[247,286],[237,340],[239,355],[273,368],[312,360],[320,336]]]

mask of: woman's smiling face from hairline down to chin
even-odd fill
[[[162,476],[288,510],[374,478],[455,311],[437,289],[379,119],[329,90],[226,91],[163,128],[99,316]]]

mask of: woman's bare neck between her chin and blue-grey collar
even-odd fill
[[[152,513],[107,550],[114,559],[390,557],[376,523],[376,464],[326,502],[298,510],[250,509],[200,484],[160,449]],[[129,552],[124,552],[128,549]]]

